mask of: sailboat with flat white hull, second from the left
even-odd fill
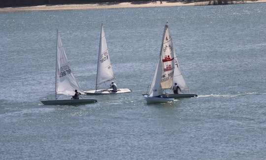
[[[98,55],[98,66],[97,66],[97,78],[96,78],[96,88],[95,90],[84,91],[87,95],[102,95],[102,94],[117,94],[117,93],[127,93],[131,92],[128,88],[119,88],[117,92],[112,92],[112,89],[98,89],[101,83],[114,80],[115,76],[113,74],[110,57],[107,49],[107,43],[105,39],[105,34],[103,26],[101,24],[100,32],[100,46]]]

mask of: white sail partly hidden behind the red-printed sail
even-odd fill
[[[182,90],[188,90],[187,84],[182,76],[181,70],[179,68],[177,56],[174,52],[174,77],[173,77],[173,85],[174,83],[177,83],[177,85],[182,89]]]

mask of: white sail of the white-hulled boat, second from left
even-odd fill
[[[101,24],[96,89],[99,84],[113,79],[115,79],[115,77],[110,62],[104,30]]]

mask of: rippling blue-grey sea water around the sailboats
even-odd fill
[[[199,96],[147,105],[166,21]],[[42,105],[55,99],[57,30],[95,88],[101,23],[115,82],[133,92]],[[0,159],[264,160],[265,27],[266,3],[0,13]]]

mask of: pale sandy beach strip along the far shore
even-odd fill
[[[266,0],[244,1],[246,3],[266,2]],[[108,3],[91,3],[91,4],[62,4],[62,5],[38,5],[38,6],[25,6],[25,7],[5,7],[0,8],[0,12],[21,12],[21,11],[49,11],[49,10],[81,10],[81,9],[111,9],[111,8],[137,8],[137,7],[165,7],[165,6],[185,6],[196,5],[197,2],[183,3],[183,2],[167,2],[160,1],[152,3],[149,1],[143,2],[108,2]]]

